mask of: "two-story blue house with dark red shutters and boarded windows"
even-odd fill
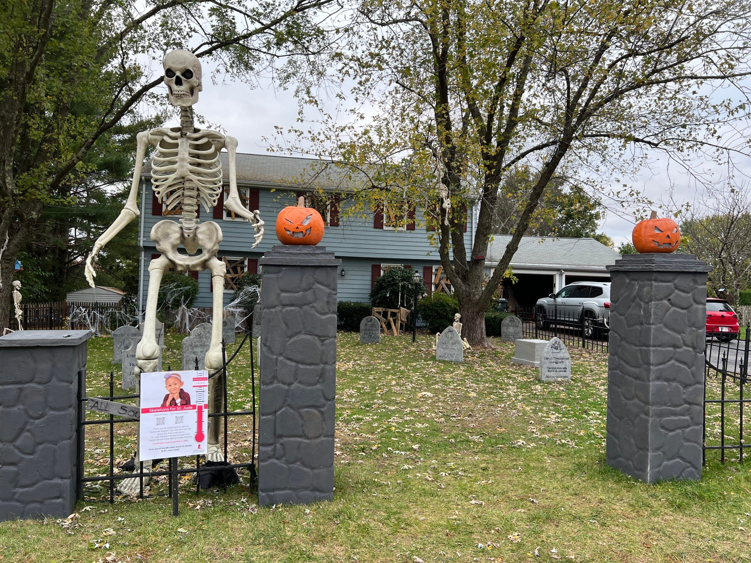
[[[226,195],[229,192],[226,153],[222,153],[222,161]],[[438,251],[428,242],[423,210],[409,206],[404,200],[394,200],[386,202],[383,209],[348,213],[345,206],[351,203],[340,194],[351,190],[351,182],[342,171],[323,167],[321,161],[311,158],[238,154],[240,198],[249,209],[259,209],[266,224],[263,242],[251,249],[253,227],[225,210],[222,198],[210,216],[207,216],[206,209],[200,210],[201,221],[216,221],[224,234],[219,245],[219,259],[227,263],[225,305],[230,302],[240,277],[246,272],[257,273],[258,259],[272,245],[279,244],[274,232],[276,215],[285,206],[294,205],[299,195],[306,195],[307,205],[318,209],[324,218],[326,226],[320,244],[342,259],[337,294],[340,301],[366,302],[375,280],[391,266],[412,266],[422,275],[429,292],[445,291],[445,275],[442,274]],[[325,194],[323,197],[321,190]],[[164,203],[158,202],[151,190],[148,168],[141,178],[140,211],[138,306],[143,311],[149,285],[149,261],[158,257],[149,232],[158,221],[169,215],[176,215],[174,218],[177,219],[182,212],[181,209],[169,211]],[[476,217],[476,206],[473,206],[467,212],[464,235],[468,254]],[[212,306],[210,273],[191,272],[191,275],[198,279],[200,287],[194,306]]]

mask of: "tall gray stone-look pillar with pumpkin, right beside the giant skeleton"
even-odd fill
[[[261,258],[258,504],[333,498],[336,269],[321,246]]]

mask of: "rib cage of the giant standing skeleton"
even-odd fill
[[[176,146],[165,147],[162,142],[165,140]],[[209,148],[198,148],[202,145]],[[204,204],[207,212],[216,206],[222,193],[222,162],[216,146],[201,132],[181,138],[179,131],[164,131],[151,166],[152,190],[159,202],[164,202],[167,209],[182,203],[183,219],[195,218],[199,203]]]

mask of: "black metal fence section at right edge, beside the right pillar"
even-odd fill
[[[746,325],[743,339],[719,340],[707,338],[704,356],[704,463],[707,451],[719,450],[719,460],[725,463],[729,453],[737,451],[738,461],[751,444],[744,441],[744,405],[751,402],[748,393],[749,336]],[[727,452],[727,453],[726,453]]]

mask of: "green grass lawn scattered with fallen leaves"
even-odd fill
[[[167,336],[165,367],[179,368],[180,338]],[[751,462],[712,453],[700,482],[656,485],[605,465],[607,354],[572,348],[572,382],[541,384],[509,343],[453,364],[433,342],[339,333],[333,501],[257,508],[247,486],[196,495],[185,480],[173,518],[164,496],[110,505],[93,490],[71,519],[0,525],[0,561],[751,559]],[[111,339],[89,341],[90,395],[108,392],[111,355]],[[249,405],[249,367],[246,349],[231,408]],[[135,429],[117,428],[125,460]],[[233,461],[248,459],[250,419],[230,429]],[[87,435],[87,474],[107,471],[109,436]]]

